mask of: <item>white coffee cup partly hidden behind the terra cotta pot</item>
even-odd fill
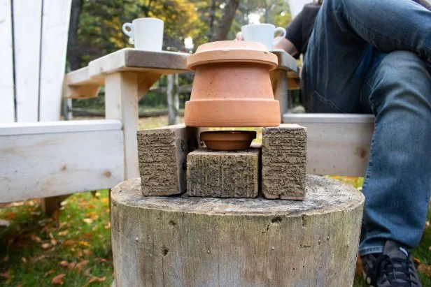
[[[275,27],[273,24],[248,24],[241,27],[241,34],[244,41],[253,41],[262,43],[267,46],[268,50],[274,49],[274,34],[280,33],[282,38],[286,35],[286,30],[283,27]]]

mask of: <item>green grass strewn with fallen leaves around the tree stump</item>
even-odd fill
[[[167,117],[140,119],[141,128]],[[362,186],[362,178],[335,177]],[[431,214],[431,213],[430,213]],[[428,217],[430,217],[430,214]],[[413,255],[423,286],[431,286],[431,230]],[[47,218],[39,200],[0,205],[0,286],[109,286],[113,281],[108,191],[78,193]],[[354,286],[365,286],[360,277]]]

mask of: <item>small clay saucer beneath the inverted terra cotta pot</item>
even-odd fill
[[[213,150],[248,149],[256,138],[255,131],[204,131],[201,140]]]

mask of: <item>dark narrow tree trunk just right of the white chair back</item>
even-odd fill
[[[83,0],[72,0],[71,20],[69,22],[69,39],[67,42],[67,58],[71,71],[80,68],[80,55],[77,53],[76,45],[78,44],[78,24]]]

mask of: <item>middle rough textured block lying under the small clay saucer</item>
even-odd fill
[[[255,198],[259,191],[260,149],[215,152],[197,149],[187,157],[189,196]]]

